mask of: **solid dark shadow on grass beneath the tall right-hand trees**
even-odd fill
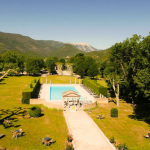
[[[136,105],[133,107],[133,115],[128,115],[129,118],[144,121],[150,124],[150,103],[143,105]]]

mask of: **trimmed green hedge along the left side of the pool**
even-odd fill
[[[29,86],[22,91],[22,104],[29,104],[30,98],[34,98],[35,91],[40,85],[40,79],[34,79]]]

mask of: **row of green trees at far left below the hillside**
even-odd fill
[[[7,51],[0,55],[0,68],[2,70],[13,69],[18,74],[26,71],[29,74],[39,73],[45,67],[43,58],[28,58],[14,51]]]

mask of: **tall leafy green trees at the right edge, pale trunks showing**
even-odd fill
[[[116,43],[100,70],[110,81],[117,98],[120,93],[133,103],[150,100],[150,35],[135,34]]]

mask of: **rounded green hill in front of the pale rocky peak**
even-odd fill
[[[52,57],[65,58],[67,56],[74,56],[77,53],[83,53],[83,51],[77,49],[73,45],[65,44],[62,47],[56,49],[51,53]]]

